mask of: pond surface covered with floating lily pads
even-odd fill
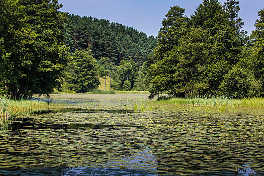
[[[65,107],[13,119],[0,133],[0,175],[264,175],[263,109],[158,106],[147,96],[40,98]]]

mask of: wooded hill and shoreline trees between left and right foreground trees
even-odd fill
[[[157,46],[156,37],[108,20],[75,15],[67,16],[64,31],[70,59],[60,90],[92,91],[98,87],[98,76],[110,76],[110,89],[149,89],[143,69]]]

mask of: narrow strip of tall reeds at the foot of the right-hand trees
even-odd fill
[[[159,105],[187,105],[201,107],[252,107],[264,108],[263,98],[232,99],[228,97],[213,98],[172,98],[169,100],[154,101],[151,104]]]

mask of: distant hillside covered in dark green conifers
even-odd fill
[[[91,49],[97,60],[109,57],[118,65],[123,59],[133,59],[142,65],[157,46],[157,39],[109,20],[68,15],[64,43],[71,52]]]

